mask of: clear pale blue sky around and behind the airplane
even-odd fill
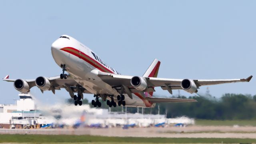
[[[91,48],[121,74],[140,76],[158,58],[161,78],[256,76],[255,6],[253,0],[4,0],[0,2],[0,76],[59,75],[50,46],[62,34]],[[254,77],[250,83],[210,86],[210,93],[255,95],[255,86]],[[41,94],[35,87],[31,92],[42,102],[69,98],[66,90]],[[199,89],[199,94],[205,92],[206,87]],[[0,97],[0,104],[14,103],[18,91],[12,83],[0,81]]]

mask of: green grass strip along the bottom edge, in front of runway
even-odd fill
[[[0,142],[11,143],[62,143],[62,142],[91,142],[91,143],[255,143],[256,139],[242,138],[137,138],[137,137],[106,137],[106,136],[74,136],[74,135],[28,135],[2,134]]]

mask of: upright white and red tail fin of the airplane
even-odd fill
[[[152,62],[152,64],[150,64],[150,66],[148,67],[148,70],[145,72],[145,74],[143,75],[143,77],[157,77],[158,74],[158,70],[160,67],[160,61],[158,59],[154,59],[154,61]],[[153,92],[146,92],[145,95],[147,97],[152,97],[153,96]]]

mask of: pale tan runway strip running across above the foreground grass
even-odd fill
[[[186,128],[78,128],[78,129],[0,129],[0,134],[68,134],[163,138],[256,138],[256,127],[189,126]]]

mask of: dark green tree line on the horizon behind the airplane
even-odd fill
[[[176,98],[187,98],[178,96]],[[144,108],[144,114],[166,114],[167,118],[179,116],[188,116],[196,119],[206,120],[251,120],[256,119],[256,95],[250,94],[224,94],[221,98],[214,98],[209,95],[190,96],[188,98],[196,99],[198,102],[188,103],[160,103],[154,108]],[[74,102],[72,99],[68,103]],[[90,104],[87,99],[83,104]],[[93,107],[90,104],[91,107]],[[159,107],[159,109],[158,109]],[[101,108],[108,108],[106,102],[102,102]],[[125,110],[125,108],[123,108]],[[127,107],[127,112],[136,113],[137,108]],[[111,108],[112,112],[121,112],[122,107]],[[142,112],[142,108],[139,108]]]

